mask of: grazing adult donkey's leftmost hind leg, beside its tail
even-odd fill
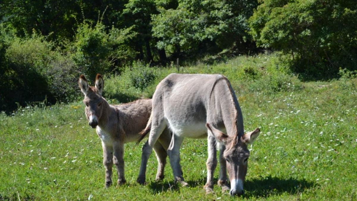
[[[162,118],[161,123],[159,125],[157,125],[155,122],[157,121],[153,121],[151,123],[151,131],[149,134],[149,140],[146,141],[146,143],[144,144],[144,146],[142,147],[142,153],[141,153],[141,165],[140,165],[140,172],[139,172],[139,176],[137,177],[137,182],[140,184],[145,184],[145,174],[146,174],[146,165],[147,165],[147,161],[149,160],[149,157],[152,153],[152,148],[154,147],[157,138],[160,137],[162,131],[164,131],[165,127],[166,127],[166,119]],[[150,141],[151,138],[151,141]],[[150,144],[149,142],[151,142],[152,144]]]

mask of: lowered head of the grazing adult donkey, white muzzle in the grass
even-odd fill
[[[248,132],[239,138],[238,135],[234,137],[228,136],[208,123],[206,126],[215,138],[226,147],[223,157],[226,160],[228,176],[231,182],[231,196],[242,195],[244,193],[243,182],[248,168],[249,150],[247,145],[253,143],[258,137],[260,129],[256,128],[254,131]]]

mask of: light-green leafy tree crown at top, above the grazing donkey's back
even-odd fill
[[[159,9],[160,14],[152,16],[153,36],[159,39],[157,47],[174,57],[182,53],[190,56],[201,48],[215,48],[217,53],[230,47],[247,36],[246,20],[256,7],[256,1],[248,2],[184,0],[176,9]]]

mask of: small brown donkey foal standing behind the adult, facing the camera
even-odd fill
[[[83,103],[86,105],[85,113],[89,126],[96,128],[98,137],[102,141],[103,164],[105,166],[105,187],[112,183],[112,166],[116,165],[118,171],[118,185],[125,183],[124,177],[124,143],[135,142],[140,137],[140,132],[146,127],[149,120],[152,100],[139,99],[131,103],[110,105],[103,97],[104,80],[100,74],[95,78],[95,86],[89,86],[84,75],[79,77],[79,88],[85,95]],[[156,180],[164,178],[167,148],[171,141],[168,129],[155,143],[157,167]],[[144,144],[147,147],[148,143]],[[143,150],[144,150],[143,147]],[[139,183],[145,182],[145,166],[142,164],[138,177]]]

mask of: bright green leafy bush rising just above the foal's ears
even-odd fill
[[[133,50],[126,45],[136,33],[132,28],[119,30],[114,27],[106,32],[105,26],[98,22],[94,27],[84,22],[77,29],[74,43],[74,61],[83,74],[94,79],[97,73],[105,74],[114,69],[114,62],[125,63]]]

